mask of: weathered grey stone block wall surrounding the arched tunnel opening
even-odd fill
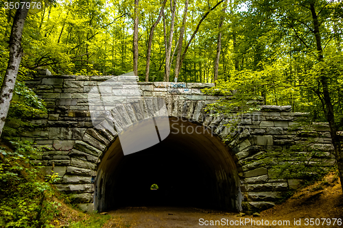
[[[43,164],[44,172],[58,173],[62,179],[56,184],[59,190],[71,193],[71,199],[82,210],[93,210],[94,193],[99,186],[97,173],[102,157],[118,143],[117,134],[93,127],[88,110],[87,92],[92,86],[113,76],[39,75],[28,81],[31,87],[48,105],[49,114],[31,122],[38,127],[34,131],[21,131],[21,139],[37,146],[45,146],[36,162]],[[145,98],[165,99],[169,116],[183,117],[198,123],[219,138],[228,135],[224,125],[233,116],[211,116],[204,113],[204,106],[220,97],[202,94],[201,88],[213,84],[139,82],[141,95]],[[259,161],[267,151],[280,151],[292,144],[300,144],[305,136],[301,129],[293,129],[294,121],[304,115],[294,113],[290,106],[261,106],[261,112],[241,116],[239,125],[244,127],[241,134],[226,141],[228,155],[237,168],[239,188],[237,208],[245,211],[262,210],[274,205],[283,193],[298,188],[298,179],[272,179],[270,167]],[[15,127],[15,126],[14,126]],[[18,127],[18,126],[16,126]],[[314,138],[320,150],[327,152],[318,164],[331,166],[333,150],[329,128],[319,129],[320,138]],[[224,142],[223,142],[224,143]],[[220,177],[220,173],[218,173]]]

